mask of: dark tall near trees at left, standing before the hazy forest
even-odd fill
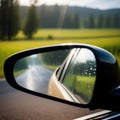
[[[18,0],[0,0],[0,39],[11,40],[21,29],[27,38],[31,39],[38,29],[38,16],[36,14],[36,0],[27,10],[26,18],[20,15]]]

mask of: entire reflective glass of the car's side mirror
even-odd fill
[[[96,80],[96,59],[86,48],[33,54],[16,62],[14,77],[26,89],[88,104]]]

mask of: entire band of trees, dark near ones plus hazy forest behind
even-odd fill
[[[31,39],[39,28],[120,28],[120,15],[94,14],[83,17],[68,6],[19,6],[18,0],[0,0],[0,39],[11,40],[19,30]],[[75,12],[74,12],[75,11]],[[94,10],[95,11],[95,10]]]

